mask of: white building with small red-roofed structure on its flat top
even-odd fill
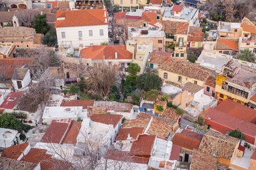
[[[173,5],[164,8],[163,20],[172,20],[184,22],[188,21],[190,26],[199,27],[200,18],[198,18],[199,10],[193,7],[185,7],[183,5]]]

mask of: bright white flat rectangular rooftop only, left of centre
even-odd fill
[[[81,115],[83,106],[52,106],[45,107],[42,118],[77,118]]]

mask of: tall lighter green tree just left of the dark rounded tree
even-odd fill
[[[140,66],[136,63],[131,63],[128,67],[128,75],[126,81],[130,86],[136,85],[137,74],[140,72]]]

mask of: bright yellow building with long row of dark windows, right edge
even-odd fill
[[[223,66],[222,73],[216,77],[215,90],[218,101],[230,98],[256,108],[256,103],[251,102],[251,97],[256,92],[256,73],[252,70],[248,71],[244,65],[235,60],[230,60]]]

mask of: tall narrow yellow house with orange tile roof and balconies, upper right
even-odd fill
[[[189,22],[162,20],[161,24],[165,33],[164,45],[166,50],[174,47],[173,57],[186,59]]]

